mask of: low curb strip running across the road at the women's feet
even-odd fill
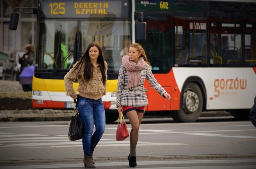
[[[248,158],[256,157],[256,154],[216,154],[216,155],[167,155],[167,156],[142,156],[137,157],[139,160],[150,159],[212,159],[212,158]],[[127,160],[127,157],[102,157],[93,158],[94,161],[114,161],[114,160]],[[17,161],[0,161],[0,164],[29,164],[29,163],[61,163],[69,161],[82,161],[82,158],[78,159],[36,159],[36,160],[17,160]]]

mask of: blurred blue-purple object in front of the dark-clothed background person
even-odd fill
[[[32,78],[34,75],[35,66],[27,66],[24,67],[22,72],[20,73],[20,84],[22,85],[32,85]]]

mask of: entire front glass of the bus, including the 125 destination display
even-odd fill
[[[44,15],[38,23],[40,34],[35,77],[63,79],[92,41],[100,43],[108,63],[108,73],[114,73],[116,77],[122,63],[124,40],[132,37],[131,6],[128,2],[122,2],[122,7],[115,10],[116,2],[92,1],[92,4],[84,4],[67,1],[52,3],[45,0]],[[68,8],[69,5],[74,8]],[[83,13],[83,9],[90,8],[90,5],[93,10]]]

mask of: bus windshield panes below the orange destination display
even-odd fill
[[[108,62],[110,72],[118,71],[121,65],[122,39],[127,38],[124,30],[129,30],[130,22],[97,22],[97,21],[66,21],[46,20],[42,24],[45,33],[42,35],[42,60],[38,67],[45,69],[70,69],[74,64],[76,33],[81,33],[81,55],[86,46],[92,41],[102,45],[105,60]]]

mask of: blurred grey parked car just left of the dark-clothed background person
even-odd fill
[[[12,52],[12,54],[8,57],[8,59],[3,65],[4,70],[2,79],[19,81],[20,63],[18,55],[22,56],[24,53],[25,52],[23,51]]]

